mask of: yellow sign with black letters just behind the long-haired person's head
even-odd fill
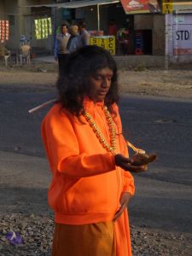
[[[108,49],[112,55],[115,55],[115,37],[91,37],[90,45],[97,45]]]

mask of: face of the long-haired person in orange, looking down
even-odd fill
[[[109,67],[105,67],[96,71],[90,76],[90,91],[88,96],[94,102],[102,102],[111,86],[113,71]]]

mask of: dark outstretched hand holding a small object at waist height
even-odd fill
[[[123,154],[114,155],[115,165],[129,172],[144,172],[148,166],[133,166],[133,161],[125,157]]]

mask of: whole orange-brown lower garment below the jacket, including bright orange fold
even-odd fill
[[[114,223],[55,224],[52,256],[131,256],[127,212]]]

